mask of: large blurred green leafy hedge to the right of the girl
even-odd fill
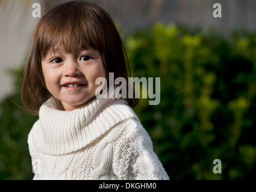
[[[135,110],[170,178],[255,179],[255,43],[163,23],[126,37],[133,76],[161,77],[160,104]]]

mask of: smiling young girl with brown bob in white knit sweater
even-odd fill
[[[132,109],[137,100],[96,97],[98,77],[128,80],[127,68],[102,8],[72,1],[42,17],[21,95],[27,110],[39,114],[28,136],[34,179],[169,179]]]

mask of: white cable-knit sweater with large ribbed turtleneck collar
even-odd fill
[[[169,179],[151,139],[122,99],[72,111],[40,107],[28,136],[34,179]]]

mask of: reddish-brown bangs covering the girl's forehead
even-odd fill
[[[78,16],[80,14],[80,16]],[[84,15],[81,17],[81,14]],[[103,37],[97,23],[84,13],[81,7],[73,11],[72,7],[60,14],[51,16],[41,23],[39,50],[44,59],[49,52],[61,49],[65,53],[73,53],[83,49],[97,49],[101,52]]]

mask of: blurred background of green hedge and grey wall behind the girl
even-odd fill
[[[61,0],[0,0],[0,179],[32,179],[19,83],[41,16]],[[134,109],[171,179],[256,179],[256,1],[92,0],[116,22],[133,77],[161,101]],[[221,16],[213,17],[214,3]],[[219,159],[221,173],[214,173]]]

